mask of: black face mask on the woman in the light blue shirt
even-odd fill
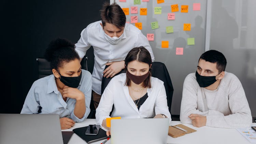
[[[59,73],[60,75],[60,73]],[[66,77],[66,76],[62,76],[60,75],[60,81],[68,86],[68,87],[73,87],[73,88],[77,88],[80,84],[80,81],[81,81],[81,77],[82,77],[82,71],[81,71],[81,74],[79,76],[76,76],[76,77]]]

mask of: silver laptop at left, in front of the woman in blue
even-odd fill
[[[0,144],[63,144],[57,114],[0,114]]]

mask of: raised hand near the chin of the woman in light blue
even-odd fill
[[[63,98],[72,98],[75,100],[84,100],[84,93],[82,91],[80,91],[77,88],[72,88],[72,87],[68,87],[68,86],[64,86],[63,87]]]

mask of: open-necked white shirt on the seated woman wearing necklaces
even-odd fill
[[[96,109],[96,121],[102,125],[102,121],[109,116],[112,106],[114,110],[111,117],[123,118],[153,118],[157,114],[166,115],[171,122],[171,114],[167,105],[165,86],[158,78],[151,77],[151,88],[147,88],[148,98],[138,110],[136,104],[129,95],[129,89],[125,86],[126,73],[119,74],[111,79],[105,88],[99,106]]]

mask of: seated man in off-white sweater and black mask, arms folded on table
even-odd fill
[[[180,120],[195,127],[246,128],[251,110],[239,79],[225,72],[226,58],[218,51],[203,53],[196,73],[185,78]]]

